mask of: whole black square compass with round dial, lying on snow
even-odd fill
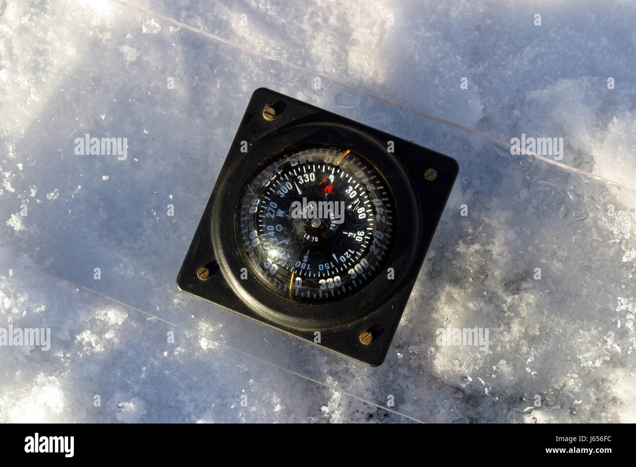
[[[380,365],[457,172],[448,156],[258,89],[177,285]]]

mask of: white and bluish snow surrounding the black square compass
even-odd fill
[[[0,1],[0,327],[52,330],[0,347],[0,421],[636,421],[636,195],[576,172],[636,189],[633,3],[130,3],[158,15]],[[260,86],[460,163],[378,369],[176,290]],[[566,166],[370,93],[563,137]],[[127,159],[76,155],[85,133]],[[447,325],[488,350],[439,345]]]

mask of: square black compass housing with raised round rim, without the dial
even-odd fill
[[[263,113],[268,107],[273,109],[269,115]],[[382,270],[364,287],[336,301],[296,301],[256,280],[258,271],[245,261],[235,226],[245,187],[255,174],[283,154],[321,146],[357,154],[382,175],[395,204],[395,228]],[[457,161],[439,152],[259,88],[205,206],[177,286],[221,308],[378,366],[389,351],[458,172]]]

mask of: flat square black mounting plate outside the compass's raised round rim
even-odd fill
[[[267,107],[274,109],[274,118],[270,119],[264,114],[264,109]],[[312,125],[321,125],[321,130],[316,130],[318,127]],[[296,130],[301,128],[300,133],[294,128]],[[347,130],[342,130],[343,128]],[[316,138],[322,140],[326,138],[328,139],[327,143],[336,143],[341,146],[353,144],[353,140],[356,138],[369,139],[384,145],[385,151],[390,144],[392,152],[391,150],[387,152],[391,152],[390,157],[397,165],[401,166],[399,177],[396,174],[392,177],[393,191],[397,193],[403,189],[408,191],[406,187],[412,188],[409,193],[412,193],[410,203],[413,206],[401,210],[400,206],[397,205],[397,212],[408,211],[413,214],[414,219],[409,219],[404,215],[402,219],[398,218],[396,233],[398,245],[393,247],[395,251],[389,256],[390,259],[387,262],[387,266],[392,264],[406,264],[406,266],[400,271],[396,269],[395,275],[397,277],[391,281],[392,288],[389,297],[384,296],[384,298],[378,298],[375,301],[373,298],[365,297],[357,302],[357,306],[368,310],[368,313],[362,318],[356,318],[356,320],[344,325],[319,329],[303,328],[298,323],[289,323],[289,325],[280,323],[265,313],[259,313],[258,306],[254,306],[249,300],[242,298],[244,295],[237,293],[237,288],[232,285],[235,281],[230,276],[236,276],[239,274],[238,271],[222,270],[223,268],[219,265],[218,260],[222,255],[219,254],[220,252],[215,252],[212,231],[214,229],[229,231],[229,229],[233,229],[235,222],[232,217],[234,214],[230,210],[223,213],[224,215],[221,217],[216,214],[218,220],[215,221],[214,205],[219,203],[222,197],[227,196],[228,186],[237,187],[251,177],[250,166],[245,163],[246,158],[250,158],[252,162],[253,159],[259,159],[257,162],[262,163],[275,155],[258,154],[258,151],[252,151],[248,155],[244,151],[245,142],[247,142],[248,147],[262,148],[262,142],[271,139],[273,134],[278,135],[277,144],[281,144],[280,135],[289,135],[287,141],[285,137],[282,138],[283,146],[287,147],[293,147],[294,144],[298,143],[299,134],[302,135],[305,142],[315,142]],[[373,163],[372,159],[370,161]],[[249,173],[247,173],[248,170]],[[343,118],[333,112],[324,111],[275,91],[259,88],[252,94],[212,195],[205,206],[202,219],[181,266],[179,276],[177,276],[177,286],[187,294],[233,313],[281,330],[312,344],[317,344],[365,365],[378,366],[384,362],[389,351],[392,337],[396,332],[413,285],[415,285],[422,262],[424,262],[424,256],[431,244],[434,231],[458,172],[457,161],[444,154],[431,151],[413,144],[413,142]],[[236,200],[235,206],[238,202]],[[219,226],[219,224],[224,225]],[[399,245],[400,229],[405,232],[409,224],[411,224],[412,229],[417,229],[417,238],[410,245]],[[238,244],[236,248],[238,249]],[[408,261],[404,262],[405,258],[408,258]],[[395,287],[393,283],[396,284]],[[376,279],[371,281],[364,290],[369,288],[389,290],[387,287],[380,282],[380,279]],[[263,294],[270,293],[263,288]],[[381,294],[380,292],[375,294],[372,290],[370,295],[371,297],[376,295],[379,297]],[[346,313],[347,306],[351,307],[353,303],[356,302],[350,300],[343,304],[335,302],[333,306],[342,306],[343,313]],[[284,306],[287,307],[287,305]],[[306,304],[289,305],[289,307],[294,306],[307,307]],[[317,332],[319,334],[316,334]],[[362,342],[364,340],[361,338],[363,332],[371,334],[371,343]]]

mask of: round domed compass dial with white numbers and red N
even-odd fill
[[[284,154],[252,177],[236,228],[256,280],[293,301],[324,302],[387,274],[395,224],[382,175],[350,151],[317,146]]]

